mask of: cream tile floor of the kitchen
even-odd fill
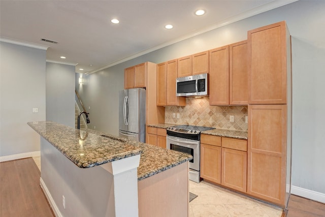
[[[41,171],[41,157],[33,158]],[[223,189],[206,181],[189,181],[189,191],[198,195],[189,203],[189,217],[280,217],[282,208]]]

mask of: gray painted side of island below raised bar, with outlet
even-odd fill
[[[113,175],[105,169],[77,167],[42,137],[41,165],[41,184],[56,216],[115,216]]]

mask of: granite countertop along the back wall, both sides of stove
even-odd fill
[[[148,127],[153,128],[163,128],[167,129],[169,127],[176,126],[177,124],[172,123],[156,123],[147,125]],[[207,134],[212,136],[221,136],[221,137],[228,137],[228,138],[234,138],[234,139],[242,139],[247,140],[248,139],[248,133],[245,131],[236,131],[236,130],[225,130],[225,129],[213,129],[208,131],[202,131],[201,134]]]

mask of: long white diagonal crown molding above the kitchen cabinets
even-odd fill
[[[222,27],[224,25],[228,25],[228,24],[231,24],[231,23],[234,23],[234,22],[237,22],[239,20],[243,20],[243,19],[246,19],[248,17],[252,17],[254,15],[257,15],[257,14],[261,14],[261,13],[264,13],[264,12],[267,12],[267,11],[270,11],[272,9],[275,9],[275,8],[279,8],[279,7],[282,7],[284,5],[288,5],[290,3],[294,3],[294,2],[297,2],[299,0],[287,0],[287,1],[283,1],[283,0],[275,0],[275,1],[272,1],[272,2],[269,2],[269,3],[266,3],[264,5],[261,5],[261,6],[258,6],[256,8],[253,8],[253,9],[250,9],[246,12],[243,12],[243,13],[240,13],[240,14],[237,14],[235,16],[232,16],[230,18],[227,18],[227,19],[224,19],[224,20],[221,20],[217,23],[214,23],[213,25],[210,25],[206,28],[202,28],[200,29],[199,31],[196,30],[195,32],[192,32],[192,33],[189,33],[183,37],[180,37],[180,38],[177,38],[175,40],[172,40],[172,41],[168,41],[166,43],[163,43],[163,44],[160,44],[160,45],[157,45],[157,46],[154,46],[154,47],[151,47],[149,49],[146,49],[146,50],[143,50],[141,52],[138,52],[136,54],[133,54],[131,56],[127,56],[125,58],[122,58],[122,59],[119,59],[113,63],[110,63],[106,66],[103,66],[99,69],[96,69],[96,70],[93,70],[93,71],[90,71],[90,72],[87,72],[85,73],[86,75],[90,75],[90,74],[93,74],[93,73],[96,73],[96,72],[99,72],[101,70],[104,70],[104,69],[107,69],[109,67],[112,67],[112,66],[115,66],[117,64],[120,64],[120,63],[123,63],[127,60],[130,60],[130,59],[134,59],[136,57],[139,57],[139,56],[142,56],[144,54],[147,54],[147,53],[150,53],[152,51],[155,51],[155,50],[158,50],[160,48],[163,48],[163,47],[167,47],[169,45],[172,45],[172,44],[175,44],[177,42],[181,42],[183,40],[186,40],[186,39],[189,39],[189,38],[192,38],[194,36],[198,36],[200,34],[203,34],[203,33],[206,33],[206,32],[209,32],[213,29],[216,29],[216,28],[219,28],[219,27]]]

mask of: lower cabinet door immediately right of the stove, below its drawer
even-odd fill
[[[221,147],[201,143],[201,177],[221,183]]]

